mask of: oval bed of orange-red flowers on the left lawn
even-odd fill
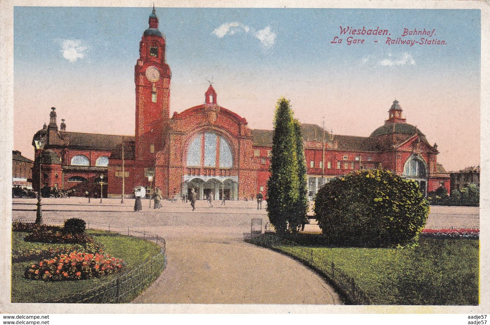
[[[102,277],[123,269],[123,260],[109,254],[72,251],[44,259],[25,269],[27,279],[63,281]]]

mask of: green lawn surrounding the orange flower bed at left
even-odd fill
[[[104,246],[104,253],[122,258],[126,263],[123,274],[138,268],[160,252],[160,247],[147,240],[117,233],[87,230],[96,242]],[[50,247],[71,247],[71,244],[28,243],[23,240],[26,232],[12,232],[12,250],[48,249]],[[38,260],[12,263],[12,302],[52,302],[63,297],[81,293],[113,281],[121,274],[112,274],[102,278],[76,281],[29,280],[24,277],[25,268]],[[161,270],[163,271],[163,270]],[[132,297],[127,297],[130,300]],[[128,302],[128,301],[125,301]]]

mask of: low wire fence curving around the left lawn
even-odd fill
[[[12,220],[13,222],[34,222],[32,218],[19,218]],[[60,220],[43,218],[45,225],[60,225],[63,222]],[[165,239],[145,231],[137,231],[130,227],[120,227],[110,225],[110,223],[90,223],[87,222],[87,229],[108,230],[123,235],[139,237],[155,242],[161,247],[160,252],[149,259],[138,268],[127,273],[117,274],[115,279],[112,279],[100,286],[76,293],[59,300],[51,301],[53,303],[120,303],[129,302],[136,298],[138,294],[153,282],[164,270],[167,260],[165,256],[166,243]]]

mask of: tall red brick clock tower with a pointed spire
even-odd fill
[[[136,85],[135,159],[147,167],[155,165],[156,152],[163,149],[164,129],[169,121],[170,67],[165,62],[165,36],[158,30],[155,6],[149,27],[140,42],[140,58],[134,67]]]

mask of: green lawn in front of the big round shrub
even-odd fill
[[[310,235],[311,236],[311,235]],[[371,304],[477,305],[479,241],[420,238],[415,249],[339,248],[301,245],[264,235],[251,242],[312,260],[329,277],[335,267],[354,279]],[[335,281],[334,281],[335,282]]]

